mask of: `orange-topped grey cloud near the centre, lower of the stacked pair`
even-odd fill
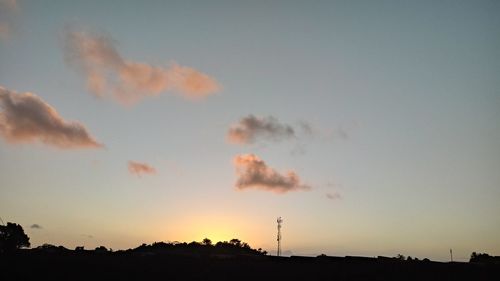
[[[236,188],[239,190],[256,188],[285,193],[311,189],[310,186],[302,183],[294,171],[280,174],[254,154],[237,155],[234,158],[234,166],[238,176]]]

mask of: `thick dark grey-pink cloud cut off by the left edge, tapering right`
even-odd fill
[[[16,93],[0,86],[0,136],[9,143],[41,141],[62,149],[100,148],[103,145],[76,121],[66,121],[32,93]]]

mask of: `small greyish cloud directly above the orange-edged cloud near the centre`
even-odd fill
[[[292,126],[282,124],[272,116],[259,118],[251,114],[231,126],[227,132],[229,142],[237,144],[254,143],[257,138],[280,141],[293,137],[295,130]]]

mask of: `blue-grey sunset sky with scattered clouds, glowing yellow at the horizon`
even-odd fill
[[[33,247],[500,255],[500,2],[0,1]]]

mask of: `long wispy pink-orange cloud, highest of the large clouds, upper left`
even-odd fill
[[[194,68],[176,63],[164,68],[125,59],[104,34],[68,30],[64,43],[66,60],[83,73],[89,91],[125,105],[165,91],[197,100],[221,89],[214,78]]]

